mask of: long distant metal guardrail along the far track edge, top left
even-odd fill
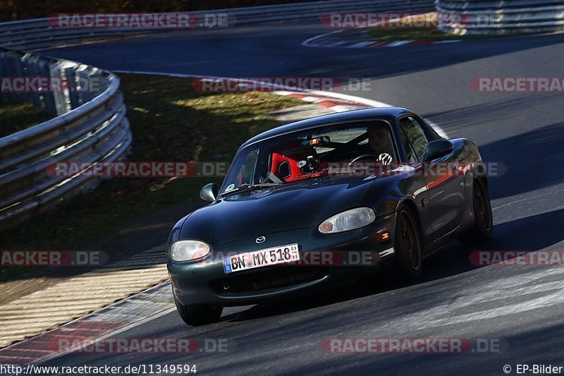
[[[274,6],[219,9],[190,12],[203,19],[206,15],[227,15],[228,25],[245,25],[319,19],[324,13],[427,11],[433,0],[330,0]],[[134,35],[171,29],[88,29],[54,28],[47,18],[0,23],[0,46],[11,49],[39,49],[55,44],[103,37]]]

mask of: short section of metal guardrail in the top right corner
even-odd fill
[[[441,30],[453,34],[510,34],[564,29],[564,0],[436,0]],[[458,22],[459,18],[462,22]]]

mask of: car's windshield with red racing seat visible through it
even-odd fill
[[[220,193],[324,176],[332,166],[356,161],[397,164],[386,121],[311,128],[249,145],[235,156]]]

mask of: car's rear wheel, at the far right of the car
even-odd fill
[[[494,231],[494,217],[486,185],[482,179],[474,178],[472,188],[472,205],[474,206],[474,226],[466,234],[460,236],[460,243],[472,244],[486,241]]]

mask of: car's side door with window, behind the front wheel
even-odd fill
[[[434,135],[425,132],[421,119],[415,115],[403,116],[399,119],[400,131],[410,144],[412,160],[419,165],[429,194],[429,219],[433,229],[433,237],[440,238],[454,231],[462,219],[465,204],[465,182],[455,174],[452,166],[457,166],[456,152],[439,159],[422,164],[429,142]],[[414,163],[415,163],[414,162]]]

